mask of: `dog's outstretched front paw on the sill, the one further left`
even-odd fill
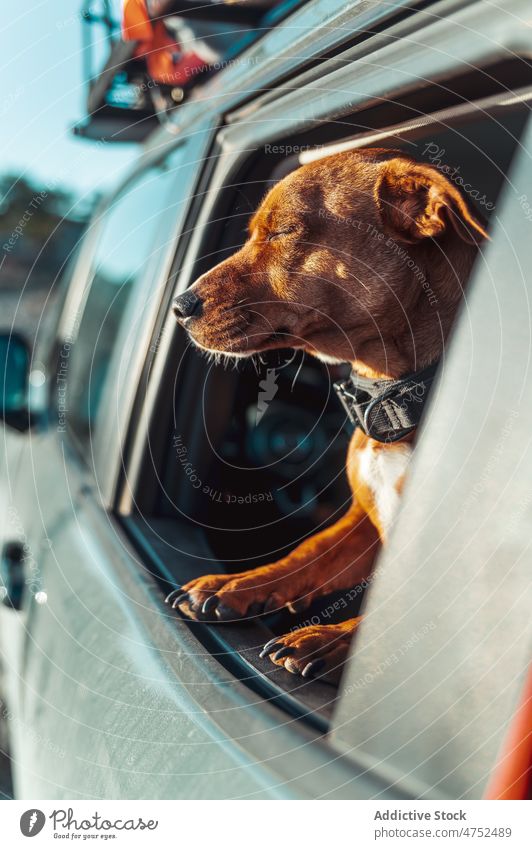
[[[298,599],[291,592],[286,570],[265,566],[238,575],[204,575],[167,596],[167,603],[190,619],[231,622],[274,613],[288,607],[299,613],[310,604],[310,595]]]

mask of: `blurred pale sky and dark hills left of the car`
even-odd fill
[[[0,327],[29,339],[95,202],[138,152],[73,133],[87,100],[82,14],[78,0],[38,0],[2,22]]]

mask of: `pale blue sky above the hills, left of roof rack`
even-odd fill
[[[9,6],[0,22],[0,173],[26,174],[81,197],[112,187],[140,146],[72,135],[86,97],[81,0]]]

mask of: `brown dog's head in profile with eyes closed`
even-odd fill
[[[292,347],[353,361],[408,326],[429,290],[437,298],[433,286],[459,291],[485,236],[437,169],[396,151],[347,151],[277,183],[244,246],[173,310],[209,351]]]

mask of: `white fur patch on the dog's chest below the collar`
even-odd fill
[[[386,448],[369,442],[359,453],[359,475],[373,495],[385,538],[399,506],[400,487],[412,454],[409,445]]]

